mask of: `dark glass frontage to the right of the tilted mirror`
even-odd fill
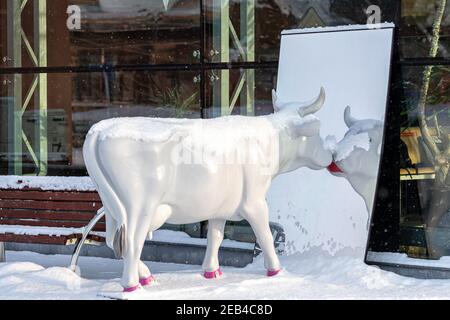
[[[410,263],[405,256],[439,260],[450,255],[450,63],[445,61],[450,6],[439,0],[401,4],[400,54],[415,59],[393,68],[366,259],[390,265]]]

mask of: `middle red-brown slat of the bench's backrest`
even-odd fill
[[[66,201],[36,201],[36,200],[0,200],[0,208],[10,209],[48,209],[97,211],[102,207],[101,202],[66,202]]]

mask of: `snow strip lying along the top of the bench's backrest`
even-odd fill
[[[95,191],[90,177],[0,176],[0,189],[35,188],[55,191]]]

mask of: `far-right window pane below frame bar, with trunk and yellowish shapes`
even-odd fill
[[[450,69],[433,67],[421,109],[424,69],[403,70],[400,248],[439,258],[450,254]]]

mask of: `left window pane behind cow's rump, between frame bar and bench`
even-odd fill
[[[195,71],[3,75],[1,174],[86,175],[84,138],[103,119],[199,118],[196,75]],[[48,87],[46,97],[39,96],[39,85],[33,90],[35,81]]]

